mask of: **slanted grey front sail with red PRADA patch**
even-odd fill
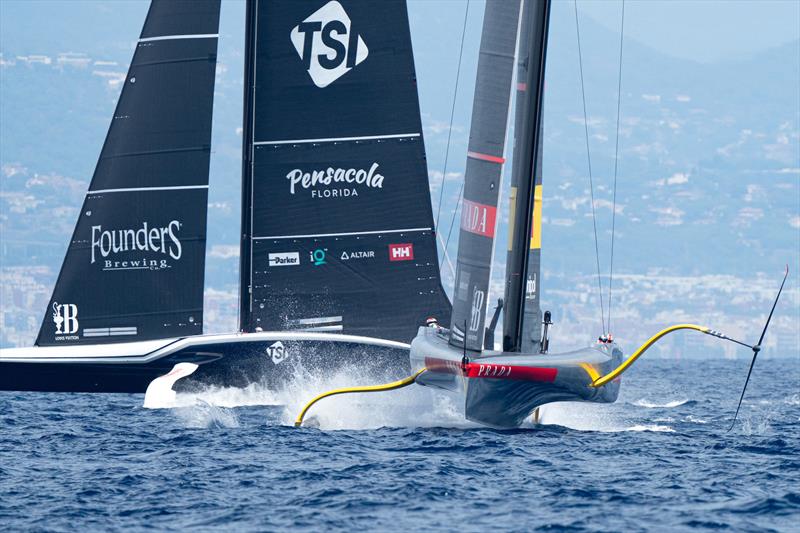
[[[520,3],[487,0],[464,175],[450,343],[481,350]]]

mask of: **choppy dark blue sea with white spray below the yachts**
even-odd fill
[[[643,360],[613,405],[464,422],[418,386],[337,397],[343,372],[142,408],[0,393],[0,530],[798,531],[800,365]],[[363,380],[361,380],[363,381]]]

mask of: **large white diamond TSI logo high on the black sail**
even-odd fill
[[[367,58],[369,49],[353,30],[342,4],[328,2],[289,34],[314,85],[320,89]]]

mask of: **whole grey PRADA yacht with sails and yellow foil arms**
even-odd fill
[[[752,350],[734,423],[756,357],[789,274],[788,265],[761,337],[754,345],[695,324],[676,324],[652,336],[623,360],[613,336],[568,353],[549,353],[551,314],[539,294],[542,232],[542,107],[550,0],[486,0],[464,184],[452,318],[449,328],[421,327],[411,343],[412,375],[385,386],[334,391],[391,390],[411,383],[455,393],[469,420],[498,428],[519,427],[551,402],[610,403],[620,376],[660,338],[695,330]],[[577,17],[577,12],[576,12]],[[517,32],[509,28],[519,28]],[[621,46],[621,43],[620,43]],[[517,61],[515,138],[505,294],[485,325],[498,220],[498,192],[505,163],[510,98]],[[621,57],[621,55],[620,55]],[[587,143],[588,151],[588,143]],[[599,267],[598,267],[599,276]],[[502,350],[494,329],[503,312]],[[605,328],[605,324],[604,324]],[[731,425],[731,427],[733,427]]]

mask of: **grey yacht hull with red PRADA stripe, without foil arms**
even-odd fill
[[[598,344],[562,354],[463,351],[448,344],[448,332],[420,328],[411,343],[411,368],[423,367],[417,383],[463,397],[467,419],[498,428],[519,427],[537,407],[552,402],[611,403],[620,380],[591,383],[622,363],[616,344]]]

